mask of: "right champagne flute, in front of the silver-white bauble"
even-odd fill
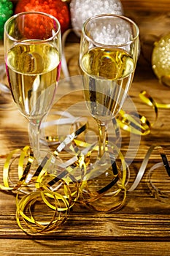
[[[98,156],[93,163],[92,174],[88,176],[88,184],[96,177],[94,183],[98,187],[96,190],[100,192],[106,192],[107,187],[110,189],[111,184],[115,184],[112,181],[110,186],[102,189],[105,186],[104,179],[107,177],[108,180],[109,175],[114,178],[117,174],[117,171],[112,172],[115,152],[112,151],[111,157],[109,150],[106,150],[106,146],[109,146],[107,129],[109,122],[123,108],[134,78],[138,53],[139,28],[133,20],[121,15],[103,14],[96,15],[83,24],[80,42],[82,83],[86,105],[98,124]],[[85,190],[89,191],[89,187]],[[112,192],[107,195],[114,193],[118,194],[112,188]],[[87,199],[88,203],[100,197],[98,192],[91,192],[89,195],[93,198],[89,201]],[[85,197],[88,198],[87,195]],[[116,205],[118,207],[117,203]],[[101,208],[102,211],[107,211],[105,206]]]

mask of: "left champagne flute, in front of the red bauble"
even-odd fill
[[[61,69],[61,26],[43,12],[21,12],[4,25],[4,58],[12,97],[31,129],[39,158],[39,129],[50,110]]]

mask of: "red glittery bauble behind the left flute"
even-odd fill
[[[53,15],[61,24],[61,33],[69,29],[70,12],[66,2],[61,0],[19,0],[15,14],[19,12],[45,12]],[[31,20],[33,23],[34,20]]]

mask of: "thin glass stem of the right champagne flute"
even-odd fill
[[[107,140],[107,124],[98,121],[98,160],[105,163],[105,149]]]

